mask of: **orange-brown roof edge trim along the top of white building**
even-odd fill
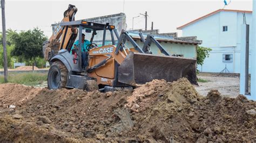
[[[188,25],[190,25],[190,24],[196,23],[197,21],[199,21],[199,20],[201,20],[201,19],[204,19],[204,18],[206,18],[206,17],[210,17],[210,16],[212,16],[212,15],[215,15],[216,13],[218,13],[218,12],[220,12],[220,11],[252,13],[252,11],[247,11],[247,10],[225,10],[225,9],[219,9],[219,10],[215,10],[215,11],[213,11],[213,12],[211,12],[211,13],[208,13],[208,14],[205,15],[205,16],[202,16],[202,17],[199,17],[199,18],[197,18],[197,19],[194,19],[194,20],[192,20],[191,22],[189,22],[189,23],[187,23],[187,24],[184,24],[184,25],[182,25],[182,26],[179,26],[179,27],[177,27],[177,30],[182,30],[182,28],[184,28],[184,27],[186,27],[186,26],[188,26]]]

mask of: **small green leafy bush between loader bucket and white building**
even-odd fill
[[[212,51],[211,48],[197,47],[197,65],[203,65],[205,58],[209,57],[209,52]]]

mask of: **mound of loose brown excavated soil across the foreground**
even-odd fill
[[[0,142],[255,142],[255,110],[186,78],[106,93],[0,84]]]

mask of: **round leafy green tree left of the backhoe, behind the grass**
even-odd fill
[[[36,58],[43,57],[42,44],[46,39],[43,31],[39,30],[39,28],[22,31],[18,34],[12,33],[11,42],[14,42],[15,46],[11,51],[11,55],[34,63]]]

